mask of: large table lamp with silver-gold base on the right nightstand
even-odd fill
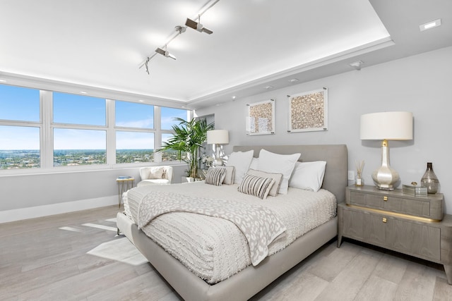
[[[372,173],[376,188],[394,190],[399,180],[398,172],[389,166],[388,140],[412,140],[411,112],[369,113],[361,116],[361,140],[383,140],[381,142],[381,166]]]

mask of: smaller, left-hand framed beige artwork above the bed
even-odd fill
[[[270,135],[275,133],[275,99],[246,104],[246,135]]]

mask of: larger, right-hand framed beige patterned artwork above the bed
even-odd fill
[[[328,130],[328,89],[287,95],[289,126],[287,132]]]

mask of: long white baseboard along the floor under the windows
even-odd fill
[[[95,199],[81,199],[74,202],[65,202],[58,204],[48,204],[36,207],[20,208],[0,211],[0,223],[10,221],[20,221],[23,219],[34,219],[36,217],[62,214],[72,211],[93,209],[118,204],[118,196],[97,197]]]

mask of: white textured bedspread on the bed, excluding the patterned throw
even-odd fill
[[[286,235],[273,241],[269,254],[290,245],[299,236],[332,219],[336,200],[331,192],[289,188],[287,195],[259,199],[237,192],[238,185],[207,185],[203,181],[174,185],[149,185],[129,190],[124,209],[137,221],[138,204],[150,191],[230,199],[268,207],[287,228]],[[201,214],[172,212],[153,219],[143,232],[208,283],[217,283],[251,264],[249,247],[242,232],[230,221]]]

